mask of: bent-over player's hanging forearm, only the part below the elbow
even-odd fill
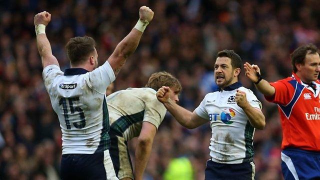
[[[138,144],[135,148],[135,160],[134,160],[134,179],[142,179],[144,169],[149,159],[152,149],[152,140],[142,142],[138,140]]]

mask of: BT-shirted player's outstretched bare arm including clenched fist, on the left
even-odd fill
[[[203,119],[200,116],[198,116],[194,111],[191,112],[176,104],[172,99],[169,98],[170,91],[170,87],[162,86],[156,92],[156,98],[163,103],[165,108],[174,116],[174,118],[182,126],[192,129],[208,121],[207,119]]]

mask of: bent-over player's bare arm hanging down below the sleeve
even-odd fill
[[[148,162],[156,127],[150,122],[142,122],[142,128],[135,147],[134,179],[142,180],[143,172]]]

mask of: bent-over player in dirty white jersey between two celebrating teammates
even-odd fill
[[[119,90],[106,97],[110,119],[109,151],[119,179],[142,179],[155,132],[166,112],[155,96],[162,85],[172,89],[169,97],[177,102],[181,84],[167,72],[153,73],[145,87]],[[127,141],[137,136],[132,170]]]

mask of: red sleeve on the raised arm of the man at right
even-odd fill
[[[283,105],[290,101],[290,97],[292,96],[292,90],[290,90],[290,88],[293,89],[293,87],[288,80],[282,79],[276,82],[270,82],[270,85],[274,87],[275,92],[273,96],[264,96],[267,101]]]

